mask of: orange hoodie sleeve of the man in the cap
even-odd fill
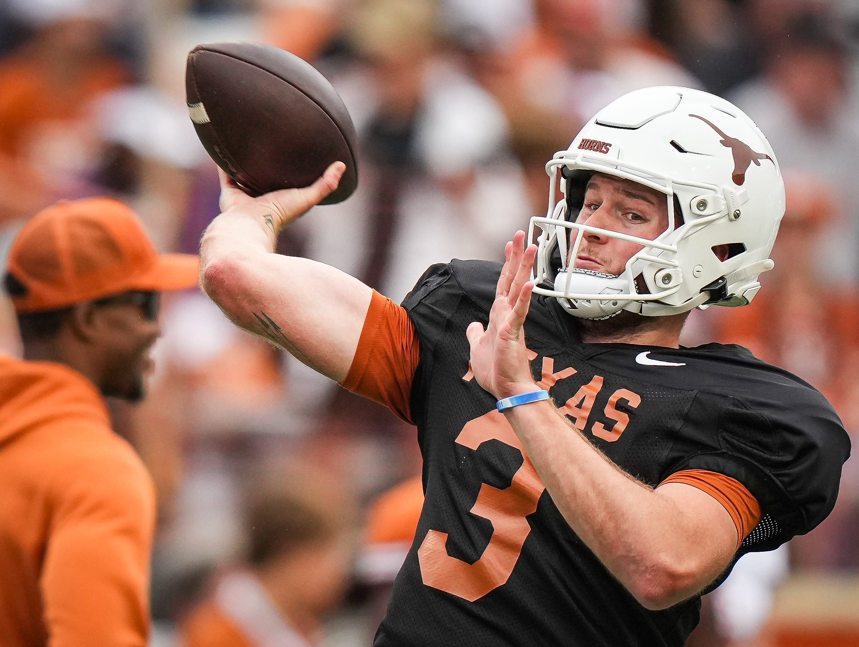
[[[72,449],[54,466],[40,577],[49,644],[146,647],[155,491],[131,447],[96,431],[104,443]]]

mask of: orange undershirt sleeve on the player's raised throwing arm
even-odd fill
[[[405,308],[373,290],[349,375],[340,384],[414,424],[411,380],[419,358],[417,333]]]

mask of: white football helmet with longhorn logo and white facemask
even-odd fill
[[[546,172],[549,212],[531,218],[528,237],[539,244],[534,292],[557,297],[570,314],[602,319],[621,310],[658,316],[746,305],[760,289],[758,274],[772,269],[782,174],[758,126],[715,95],[667,86],[624,95],[588,121]],[[664,193],[667,229],[649,241],[576,223],[594,173]],[[557,184],[564,199],[555,204]],[[570,269],[586,232],[643,249],[619,276]],[[719,245],[728,246],[723,261]]]

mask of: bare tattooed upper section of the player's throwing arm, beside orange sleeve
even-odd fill
[[[274,253],[235,259],[221,271],[206,290],[230,320],[344,380],[373,290],[335,267]]]

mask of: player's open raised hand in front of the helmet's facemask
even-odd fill
[[[499,400],[538,391],[528,367],[522,326],[531,305],[531,268],[537,246],[525,247],[525,232],[517,231],[504,249],[504,263],[484,330],[478,321],[466,330],[472,347],[471,367],[478,384]]]

